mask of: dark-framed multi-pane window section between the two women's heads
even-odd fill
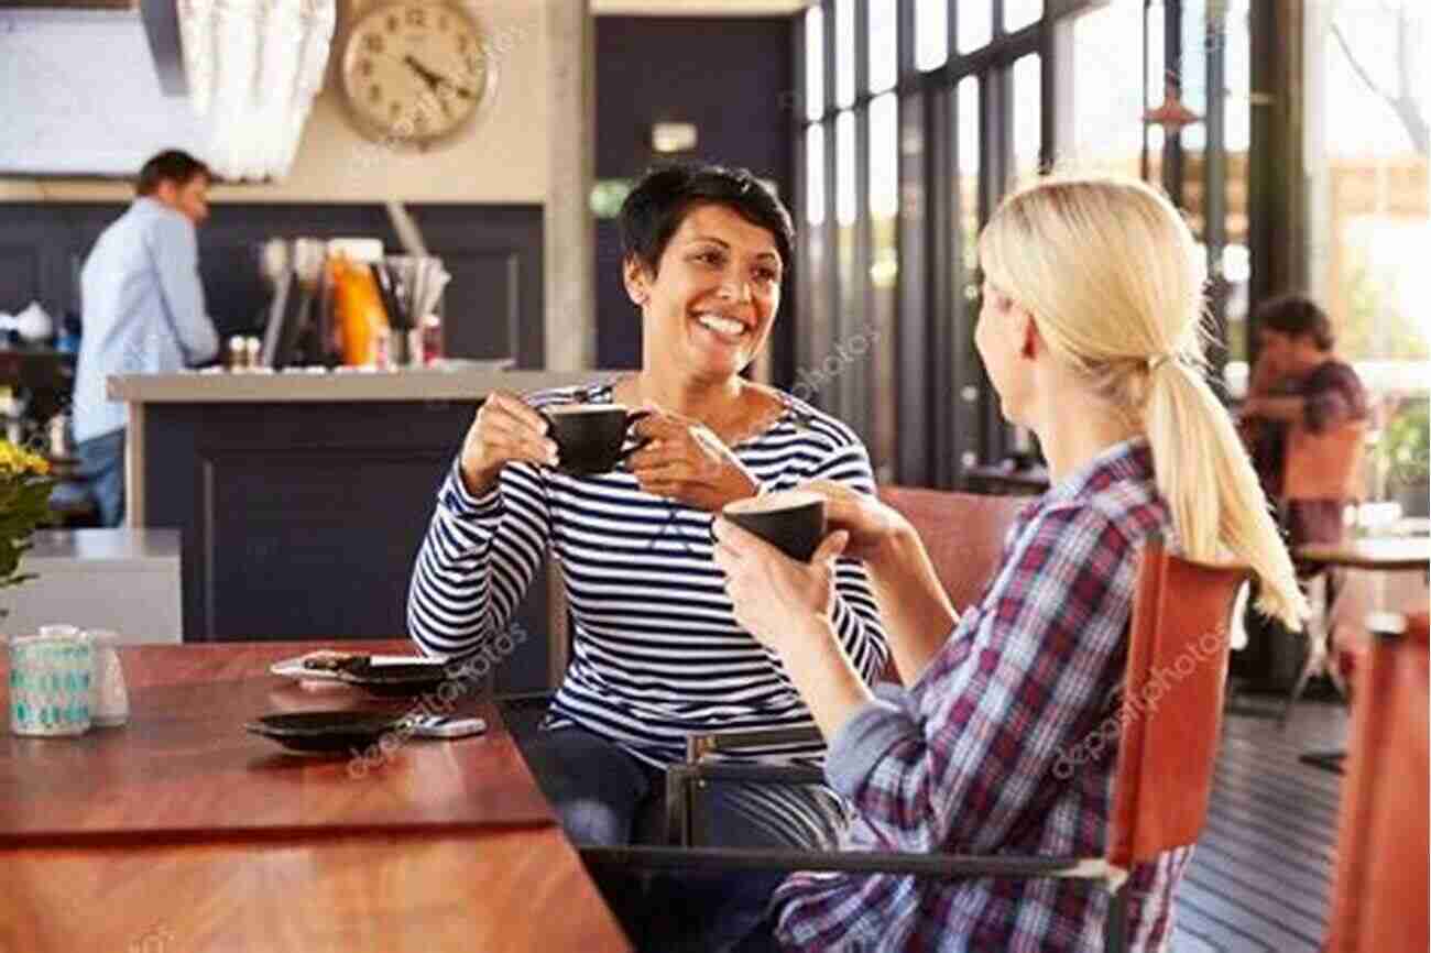
[[[804,13],[797,382],[860,431],[881,479],[952,485],[1020,445],[973,348],[977,238],[1046,159],[1045,6]]]

